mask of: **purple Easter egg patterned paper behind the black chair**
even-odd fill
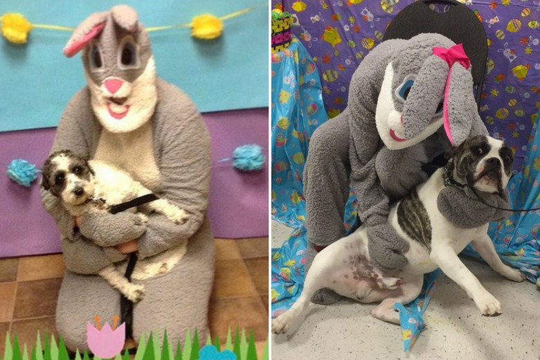
[[[474,11],[488,38],[485,87],[480,102],[489,133],[503,138],[520,169],[532,124],[540,107],[540,6],[533,0],[460,0]],[[395,15],[413,0],[272,1],[294,17],[300,38],[321,73],[330,118],[347,106],[350,78],[381,42]],[[444,11],[438,6],[435,11]]]

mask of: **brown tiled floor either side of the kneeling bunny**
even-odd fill
[[[268,238],[216,239],[215,283],[210,331],[225,339],[227,329],[253,330],[258,354],[268,334]],[[32,344],[37,330],[55,332],[55,307],[64,275],[62,255],[0,259],[0,357],[6,332]]]

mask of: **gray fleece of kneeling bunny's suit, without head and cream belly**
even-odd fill
[[[68,272],[62,282],[56,316],[58,331],[71,350],[87,348],[81,334],[93,316],[105,318],[120,312],[118,291],[98,276],[78,274],[97,273],[121,260],[124,255],[111,246],[134,238],[138,238],[139,258],[152,257],[188,240],[188,253],[173,271],[145,280],[146,296],[134,307],[134,331],[148,334],[156,327],[171,325],[167,330],[172,341],[183,341],[188,327],[197,327],[201,339],[208,334],[206,314],[215,262],[210,224],[206,220],[210,140],[199,112],[186,94],[161,79],[156,87],[159,100],[150,121],[160,182],[156,188],[144,182],[143,185],[185,209],[190,214],[186,223],[174,224],[155,213],[147,224],[141,224],[130,213],[85,215],[80,232],[75,232],[73,218],[60,201],[42,190],[42,202],[62,234]],[[85,87],[67,105],[51,152],[67,149],[91,159],[102,131]]]

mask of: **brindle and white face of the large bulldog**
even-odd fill
[[[454,177],[483,192],[502,192],[512,173],[514,153],[491,136],[474,136],[453,150]]]

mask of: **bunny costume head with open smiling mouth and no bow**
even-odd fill
[[[75,29],[64,47],[82,50],[91,105],[109,132],[131,132],[150,120],[157,102],[156,68],[150,38],[126,5],[96,12]]]

